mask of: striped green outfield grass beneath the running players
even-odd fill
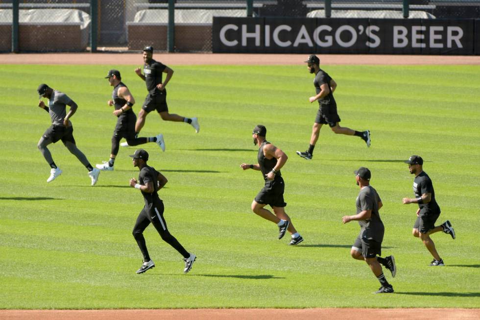
[[[115,171],[91,187],[77,159],[51,145],[63,174],[46,182],[36,144],[50,119],[36,106],[37,86],[78,103],[74,136],[95,166],[108,160],[116,122],[103,78],[114,67],[138,113],[146,89],[135,66],[0,66],[0,308],[480,307],[480,66],[325,66],[338,83],[341,125],[370,129],[372,146],[324,126],[312,161],[295,154],[308,147],[318,108],[308,102],[305,66],[173,66],[170,112],[198,117],[200,133],[151,113],[141,135],[165,136],[165,153],[144,148],[169,180],[160,192],[168,228],[198,256],[186,275],[152,226],[145,238],[156,268],[135,274],[142,256],[131,232],[143,198],[128,186],[138,176],[134,148],[120,148]],[[305,238],[297,247],[250,210],[263,180],[239,165],[256,161],[258,123],[289,156],[286,211]],[[438,222],[456,230],[456,240],[432,236],[444,268],[428,266],[431,255],[411,236],[417,207],[401,202],[413,197],[403,163],[412,154],[433,180]],[[395,255],[398,267],[394,279],[385,271],[393,295],[372,295],[378,281],[350,257],[360,227],[341,223],[355,214],[360,166],[384,203],[383,255]]]

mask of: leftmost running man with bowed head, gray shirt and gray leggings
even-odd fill
[[[78,160],[80,160],[85,168],[87,168],[88,176],[92,180],[92,186],[94,186],[98,180],[100,171],[92,167],[85,154],[77,148],[75,139],[73,138],[73,126],[70,118],[77,110],[78,105],[66,94],[50,88],[45,83],[38,86],[37,93],[40,98],[38,106],[49,113],[52,123],[40,138],[37,145],[51,168],[47,182],[55,180],[56,177],[62,174],[62,170],[60,170],[55,162],[53,162],[53,158],[47,146],[51,143],[56,143],[58,140],[62,140],[64,146],[67,147],[67,149],[69,149]],[[48,98],[48,106],[45,105],[42,98]],[[70,106],[70,111],[68,113],[67,105]]]

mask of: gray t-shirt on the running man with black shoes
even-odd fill
[[[372,210],[370,219],[359,220],[360,238],[382,242],[384,240],[384,223],[380,219],[378,203],[380,196],[372,186],[363,187],[357,197],[357,214],[363,210]]]

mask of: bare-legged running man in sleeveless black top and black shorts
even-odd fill
[[[291,234],[291,240],[288,245],[296,246],[303,241],[303,238],[293,226],[290,217],[285,213],[285,206],[287,205],[283,198],[285,183],[280,172],[288,157],[282,150],[266,141],[265,136],[266,128],[264,125],[259,124],[253,129],[253,143],[260,146],[257,156],[258,163],[255,165],[242,163],[240,165],[240,168],[243,170],[253,169],[261,171],[265,180],[264,188],[252,202],[252,211],[278,225],[278,239],[282,239],[288,230]],[[264,208],[267,204],[272,207],[275,214]]]

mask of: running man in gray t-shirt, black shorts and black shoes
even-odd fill
[[[382,241],[384,240],[384,223],[380,219],[379,210],[382,208],[382,200],[377,191],[370,185],[371,173],[365,167],[360,167],[354,171],[355,181],[360,187],[360,193],[357,197],[357,214],[354,216],[342,217],[342,222],[347,223],[357,220],[360,224],[360,234],[355,240],[350,254],[357,260],[365,260],[373,274],[380,282],[380,289],[376,294],[389,294],[393,292],[393,287],[385,279],[382,265],[384,265],[395,277],[397,267],[394,257],[388,256],[382,258]]]

